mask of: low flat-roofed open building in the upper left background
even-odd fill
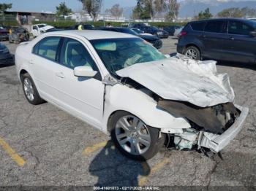
[[[52,12],[20,12],[20,11],[6,11],[4,15],[13,16],[20,25],[31,25],[32,20],[55,20],[55,13]]]

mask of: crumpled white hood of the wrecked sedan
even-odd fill
[[[235,95],[227,74],[217,74],[215,61],[194,61],[183,55],[161,61],[137,63],[116,71],[160,97],[187,101],[200,107],[233,102]]]

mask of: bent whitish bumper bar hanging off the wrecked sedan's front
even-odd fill
[[[238,133],[243,128],[243,123],[246,119],[249,109],[238,105],[236,105],[236,108],[241,111],[240,117],[238,117],[236,122],[234,122],[233,125],[231,125],[230,128],[225,130],[225,132],[221,135],[200,131],[197,142],[198,148],[206,147],[211,149],[213,152],[219,152],[238,135]]]

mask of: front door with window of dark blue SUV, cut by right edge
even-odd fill
[[[229,20],[228,34],[223,42],[223,60],[255,63],[256,38],[250,34],[255,28],[240,20]]]

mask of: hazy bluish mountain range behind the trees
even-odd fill
[[[178,17],[193,17],[200,11],[209,8],[211,14],[216,15],[223,9],[230,7],[249,7],[256,9],[256,1],[232,1],[232,0],[184,0],[180,2]],[[129,18],[132,15],[133,7],[124,7],[124,17]]]

